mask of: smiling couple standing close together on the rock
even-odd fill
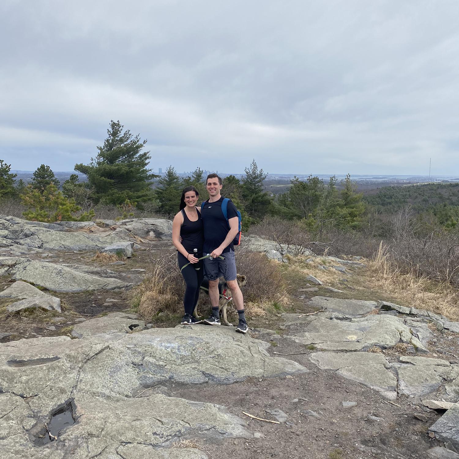
[[[236,331],[247,332],[244,315],[244,298],[237,283],[233,240],[239,232],[239,218],[233,202],[227,202],[227,215],[222,210],[224,198],[220,195],[222,179],[217,174],[209,174],[206,180],[209,199],[196,207],[199,193],[194,186],[187,186],[180,199],[180,212],[172,224],[172,242],[178,253],[179,267],[185,279],[185,316],[182,324],[220,325],[218,302],[218,279],[223,276],[231,290],[233,301],[239,314]],[[200,212],[201,210],[201,212]],[[197,250],[195,250],[197,249]],[[210,257],[199,260],[203,253]],[[222,259],[223,257],[223,259]],[[189,263],[187,266],[185,266]],[[185,266],[185,268],[184,268]],[[205,320],[193,317],[199,298],[199,289],[204,276],[209,281],[209,297],[212,315]]]

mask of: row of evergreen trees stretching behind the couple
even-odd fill
[[[25,218],[52,222],[89,220],[94,218],[93,207],[98,204],[118,206],[123,218],[132,215],[133,209],[146,207],[171,217],[178,211],[182,189],[188,185],[196,187],[201,200],[207,198],[206,177],[200,167],[184,179],[172,166],[162,177],[152,174],[148,168],[150,152],[144,151],[146,142],[112,120],[96,157],[89,164],[75,165],[75,171],[87,180],[80,181],[78,174],[72,174],[62,187],[45,164],[37,168],[30,184],[23,180],[15,183],[17,175],[11,173],[11,165],[0,160],[0,199],[19,197],[27,207]],[[327,184],[312,175],[305,181],[295,177],[289,190],[278,196],[264,190],[267,175],[253,160],[241,179],[234,175],[223,179],[222,194],[241,211],[244,230],[269,215],[301,220],[310,230],[330,226],[358,229],[362,223],[365,206],[349,175],[340,191],[335,177]]]

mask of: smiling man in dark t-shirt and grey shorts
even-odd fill
[[[236,331],[247,333],[248,326],[244,311],[244,298],[236,280],[236,262],[233,239],[239,231],[239,219],[233,202],[228,202],[228,221],[222,211],[223,197],[220,195],[222,179],[217,174],[209,174],[206,181],[209,199],[202,207],[201,217],[204,224],[204,253],[210,258],[204,259],[204,274],[209,280],[209,297],[212,303],[212,315],[204,320],[208,325],[220,325],[218,313],[218,278],[226,280],[233,301],[239,314]],[[222,260],[219,256],[224,257]]]

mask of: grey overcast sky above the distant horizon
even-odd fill
[[[0,159],[459,175],[457,0],[2,0]]]

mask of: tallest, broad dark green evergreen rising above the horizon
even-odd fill
[[[152,197],[151,179],[157,175],[147,169],[151,159],[149,151],[142,151],[146,140],[140,141],[119,121],[111,121],[108,137],[103,146],[98,146],[97,157],[88,165],[75,164],[75,170],[88,176],[90,187],[94,188],[94,202],[119,205],[128,199],[147,202]]]

